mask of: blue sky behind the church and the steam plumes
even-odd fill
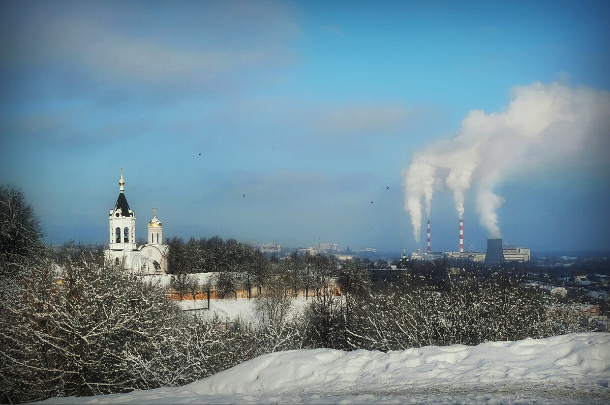
[[[166,236],[412,251],[412,155],[469,111],[503,111],[514,86],[608,91],[609,10],[5,1],[0,183],[24,191],[52,243],[106,241],[124,167],[139,236],[157,205]],[[608,137],[498,184],[506,243],[610,247]],[[483,250],[473,204],[467,194],[465,247]],[[433,248],[456,249],[450,192],[436,191],[432,212]]]

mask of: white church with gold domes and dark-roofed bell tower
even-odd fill
[[[135,274],[165,274],[167,273],[167,254],[169,246],[163,244],[163,224],[157,218],[157,208],[153,208],[153,216],[148,222],[148,243],[140,247],[135,243],[135,213],[125,197],[125,181],[123,170],[118,185],[120,191],[117,203],[108,221],[110,223],[110,244],[105,250],[106,257],[115,265],[125,263]]]

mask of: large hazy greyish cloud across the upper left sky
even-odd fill
[[[70,66],[112,84],[187,87],[228,84],[295,61],[296,12],[282,2],[123,5],[121,13],[111,3],[60,13],[41,4],[7,38],[5,56],[13,64]]]

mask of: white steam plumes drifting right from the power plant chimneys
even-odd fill
[[[493,189],[515,168],[529,172],[561,162],[581,150],[587,140],[610,133],[610,93],[588,87],[535,82],[516,86],[503,112],[468,112],[452,139],[415,153],[403,169],[404,209],[413,235],[422,230],[422,197],[428,217],[435,184],[453,192],[456,211],[464,215],[465,194],[476,192],[481,225],[491,238],[501,238],[497,210],[504,199]]]

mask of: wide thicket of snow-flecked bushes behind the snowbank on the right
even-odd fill
[[[454,280],[440,291],[390,288],[334,304],[318,301],[307,311],[314,347],[389,351],[587,330],[577,305],[498,276]]]

